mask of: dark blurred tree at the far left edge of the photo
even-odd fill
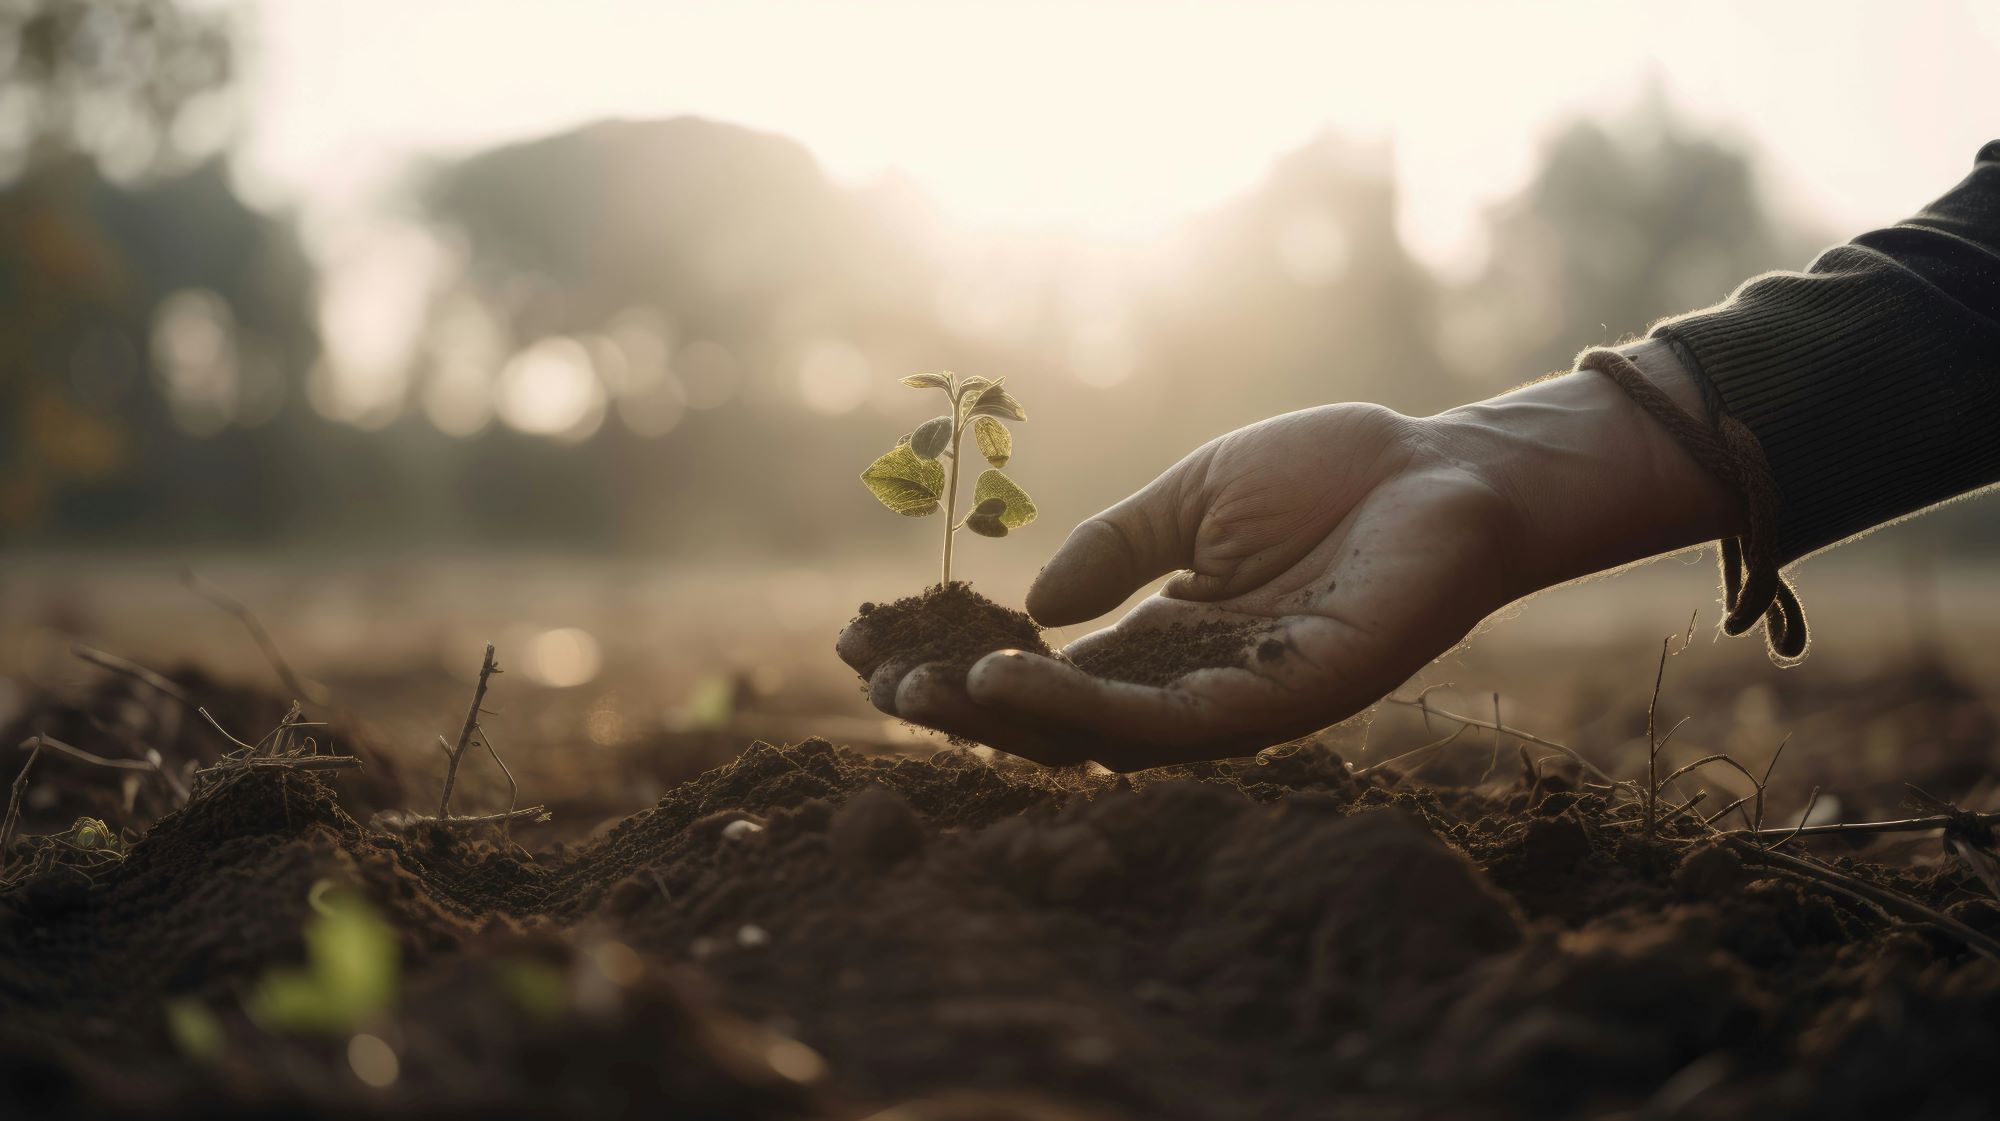
[[[312,282],[216,154],[230,12],[0,0],[0,536],[270,530]]]

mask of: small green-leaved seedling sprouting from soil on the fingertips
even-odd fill
[[[952,583],[952,538],[960,528],[980,536],[1006,536],[1036,514],[1034,498],[1000,472],[1014,456],[1014,436],[1000,420],[1028,418],[1002,380],[1006,378],[960,378],[952,372],[902,378],[910,388],[942,390],[950,410],[918,424],[862,472],[868,492],[898,514],[922,518],[944,510],[944,585]],[[954,520],[958,462],[968,432],[990,466],[972,484],[972,512]]]

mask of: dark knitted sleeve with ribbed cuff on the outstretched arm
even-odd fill
[[[1780,563],[2000,482],[2000,140],[1914,218],[1654,336],[1764,444]]]

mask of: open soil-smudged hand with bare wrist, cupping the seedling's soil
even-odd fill
[[[1664,348],[1630,352],[1692,404]],[[1082,522],[1028,591],[1038,623],[1070,625],[1178,569],[1066,653],[1210,619],[1262,625],[1236,665],[1144,687],[1000,651],[962,681],[926,665],[870,697],[1040,763],[1130,771],[1250,753],[1372,705],[1514,599],[1732,532],[1740,516],[1600,374],[1430,418],[1308,408],[1210,440]],[[866,619],[838,649],[862,675],[882,669]]]

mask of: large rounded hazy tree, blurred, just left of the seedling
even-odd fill
[[[682,550],[836,538],[846,518],[812,484],[830,462],[868,462],[882,432],[810,410],[858,408],[954,352],[932,262],[784,136],[596,122],[438,166],[422,196],[460,264],[430,316],[418,398],[466,394],[510,418],[534,386],[508,358],[542,344],[586,358],[604,402],[582,442],[492,424],[434,448],[474,536]],[[478,370],[458,360],[468,322],[494,336]],[[708,472],[728,474],[726,494],[692,484]]]

